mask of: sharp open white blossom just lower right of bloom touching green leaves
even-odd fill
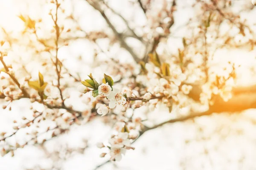
[[[113,109],[116,106],[122,106],[126,103],[126,98],[120,93],[119,89],[113,89],[113,91],[108,95],[109,108]]]

